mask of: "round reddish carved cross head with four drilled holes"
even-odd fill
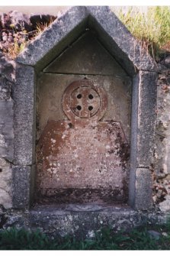
[[[71,83],[63,94],[63,111],[72,121],[100,120],[106,109],[106,92],[89,79]]]

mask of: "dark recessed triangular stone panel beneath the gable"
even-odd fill
[[[43,72],[127,76],[90,31],[69,46]]]

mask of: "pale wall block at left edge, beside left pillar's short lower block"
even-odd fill
[[[0,158],[0,205],[11,208],[11,165]],[[1,214],[1,211],[0,211]]]

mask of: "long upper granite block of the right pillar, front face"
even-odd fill
[[[153,163],[156,130],[157,73],[140,71],[136,167]]]

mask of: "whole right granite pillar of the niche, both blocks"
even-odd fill
[[[140,71],[133,80],[129,202],[130,206],[140,210],[152,208],[156,81],[157,73],[148,71]]]

